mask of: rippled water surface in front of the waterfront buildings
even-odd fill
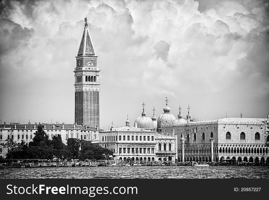
[[[0,178],[269,178],[260,166],[131,166],[0,169]]]

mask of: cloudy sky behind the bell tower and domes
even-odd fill
[[[2,1],[0,119],[74,123],[74,67],[87,16],[100,67],[100,127],[131,125],[165,96],[177,117],[266,118],[267,1]]]

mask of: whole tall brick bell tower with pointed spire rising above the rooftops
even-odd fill
[[[75,123],[99,127],[99,67],[85,18],[75,68]]]

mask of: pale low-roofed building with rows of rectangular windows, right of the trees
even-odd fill
[[[130,126],[114,128],[99,133],[100,147],[114,152],[116,159],[123,161],[174,161],[175,134],[164,136],[156,131]]]

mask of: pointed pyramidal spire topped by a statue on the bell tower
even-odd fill
[[[84,21],[85,27],[79,45],[78,56],[97,56],[94,49],[94,43],[92,42],[92,38],[90,35],[87,17],[85,17]]]

